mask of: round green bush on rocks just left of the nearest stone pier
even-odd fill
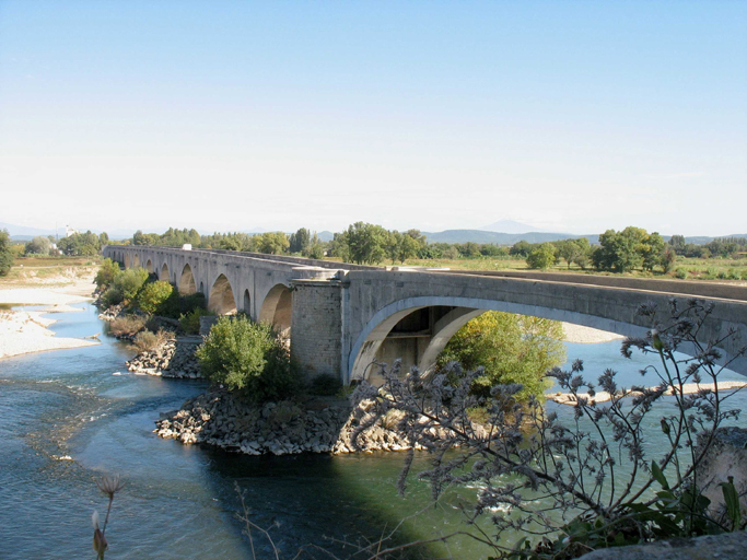
[[[276,331],[244,315],[220,317],[196,355],[208,380],[253,400],[287,398],[299,388],[288,349]]]

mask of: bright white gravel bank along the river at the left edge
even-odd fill
[[[71,304],[90,301],[95,289],[93,273],[75,277],[58,288],[10,288],[0,285],[0,304],[3,307],[42,305],[28,310],[0,311],[0,359],[32,352],[95,346],[95,339],[56,337],[48,327],[57,319],[45,317],[48,313],[83,311]],[[91,332],[89,336],[95,336]]]

